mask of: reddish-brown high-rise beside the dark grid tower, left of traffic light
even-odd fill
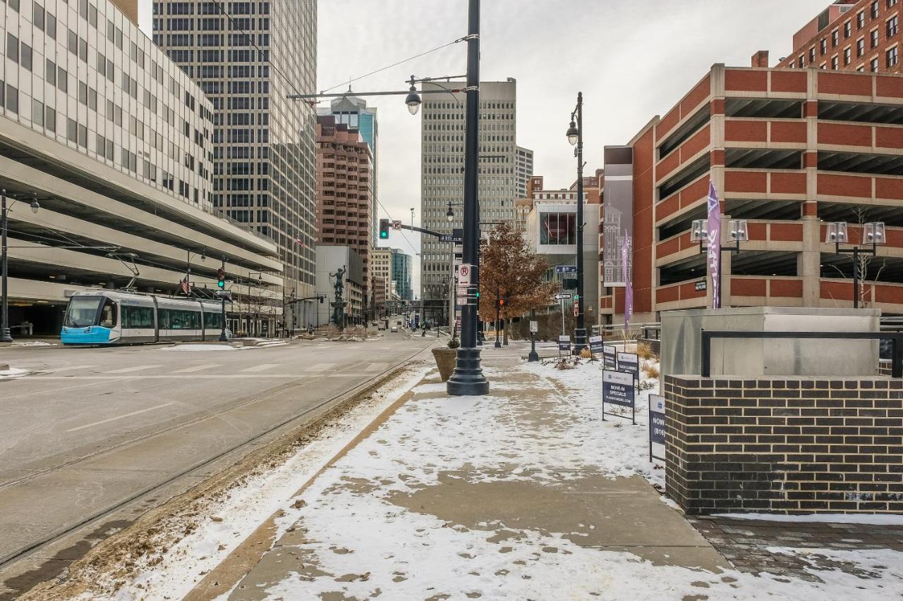
[[[373,223],[373,155],[357,129],[317,117],[317,244],[349,246],[363,263],[369,290]]]

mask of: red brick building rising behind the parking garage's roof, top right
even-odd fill
[[[793,51],[777,67],[903,72],[901,11],[898,0],[836,0],[796,32]]]

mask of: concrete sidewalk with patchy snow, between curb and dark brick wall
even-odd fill
[[[824,560],[812,578],[734,569],[654,487],[664,485],[664,470],[647,461],[654,391],[639,395],[637,426],[602,421],[599,363],[559,370],[524,364],[520,351],[485,349],[486,397],[450,398],[427,374],[308,485],[282,497],[273,518],[218,567],[191,572],[188,562],[183,578],[197,585],[185,598],[863,600],[903,592],[901,556],[885,549],[772,550],[817,553]],[[229,532],[241,517],[211,519]],[[204,544],[199,556],[216,546]],[[138,578],[137,589],[114,598],[170,598],[154,579]]]

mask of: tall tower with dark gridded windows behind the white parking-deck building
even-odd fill
[[[154,1],[154,42],[212,102],[209,201],[275,243],[296,298],[314,293],[316,113],[287,96],[314,91],[316,22],[316,0]]]

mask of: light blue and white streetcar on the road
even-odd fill
[[[64,345],[134,345],[217,340],[222,304],[116,291],[79,291],[66,309]]]

